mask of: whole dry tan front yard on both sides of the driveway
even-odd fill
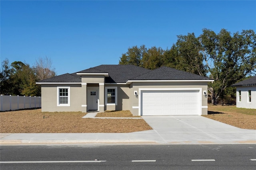
[[[41,112],[41,109],[0,113],[0,133],[128,133],[152,128],[143,119],[82,119],[81,112]],[[132,117],[130,111],[98,113],[97,117]],[[138,116],[137,116],[138,117]],[[256,109],[208,106],[208,115],[235,127],[256,129]]]

